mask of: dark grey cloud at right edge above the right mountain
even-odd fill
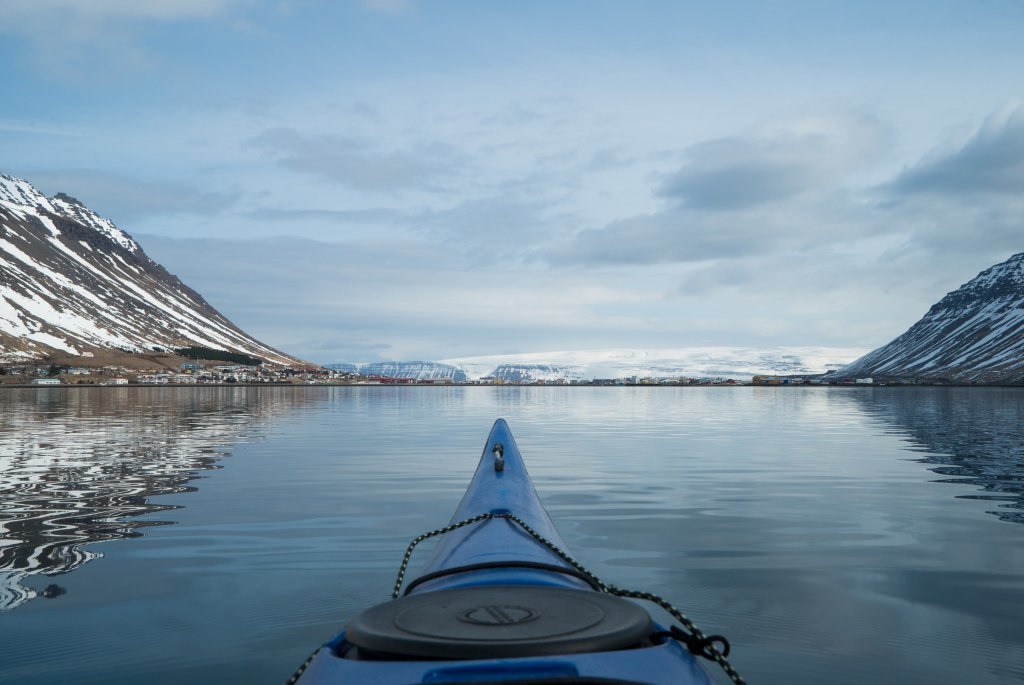
[[[947,198],[1024,195],[1024,104],[989,116],[961,145],[940,148],[882,189],[897,202],[921,195]]]

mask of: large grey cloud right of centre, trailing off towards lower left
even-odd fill
[[[689,145],[683,166],[651,188],[666,207],[581,230],[542,258],[553,265],[690,263],[870,238],[885,227],[846,184],[887,138],[873,117],[841,113]]]

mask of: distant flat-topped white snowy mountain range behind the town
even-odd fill
[[[605,349],[328,366],[367,376],[453,382],[481,378],[508,383],[632,377],[750,380],[756,375],[824,374],[841,369],[864,351],[829,347]]]

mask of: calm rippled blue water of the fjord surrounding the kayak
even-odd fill
[[[752,684],[1024,681],[1022,390],[300,387],[0,391],[0,682],[284,681],[498,417]]]

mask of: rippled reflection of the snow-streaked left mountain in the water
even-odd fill
[[[0,610],[23,582],[101,556],[87,544],[172,521],[151,498],[195,490],[228,445],[315,393],[261,388],[5,389],[0,392]]]

